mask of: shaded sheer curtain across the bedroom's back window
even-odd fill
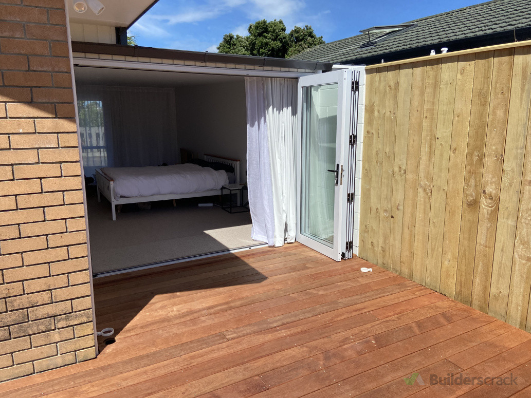
[[[104,166],[157,166],[179,161],[173,89],[78,85],[76,90],[78,106],[96,103],[103,119],[97,126],[98,131],[104,131],[98,136],[98,150],[105,151],[106,157],[90,159],[90,151],[94,149],[88,144],[98,122],[80,115],[80,125],[88,127],[81,127],[82,143],[85,143],[83,165],[90,163],[84,167],[85,174]]]

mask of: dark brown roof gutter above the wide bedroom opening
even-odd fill
[[[262,67],[281,67],[304,69],[306,71],[331,71],[332,63],[316,62],[298,59],[254,57],[248,55],[219,54],[200,51],[171,50],[140,46],[124,46],[118,44],[91,43],[72,41],[74,53],[91,53],[106,55],[121,55],[125,57],[144,57],[178,59],[182,61],[211,62],[221,64],[253,65]]]

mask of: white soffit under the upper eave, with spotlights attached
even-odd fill
[[[86,0],[85,0],[86,1]],[[129,27],[140,14],[148,8],[153,0],[100,0],[105,10],[96,15],[90,7],[84,13],[74,10],[75,0],[66,0],[70,22],[113,27]]]

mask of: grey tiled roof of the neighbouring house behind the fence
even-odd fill
[[[434,45],[439,53],[435,46],[445,41],[531,27],[531,0],[493,0],[405,23],[416,25],[371,47],[359,48],[369,41],[365,33],[310,48],[292,58],[340,63],[425,45]]]

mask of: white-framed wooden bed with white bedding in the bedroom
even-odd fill
[[[221,163],[234,169],[234,183],[239,184],[239,160],[204,155],[208,163]],[[155,202],[187,197],[220,195],[221,186],[228,184],[230,173],[198,164],[173,166],[106,167],[96,170],[98,202],[101,195],[110,202],[113,221],[116,205]],[[239,198],[238,198],[239,201]]]

